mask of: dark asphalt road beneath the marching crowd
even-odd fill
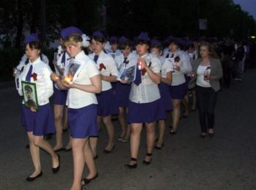
[[[199,138],[197,111],[181,119],[178,133],[165,133],[165,146],[153,152],[151,165],[143,165],[146,135],[143,132],[138,168],[127,170],[129,143],[102,153],[107,135],[102,127],[96,160],[99,177],[87,189],[256,189],[256,71],[242,82],[219,92],[214,138]],[[25,178],[34,168],[26,132],[20,126],[20,98],[13,83],[0,84],[0,190],[69,189],[72,184],[72,152],[60,152],[61,169],[51,173],[48,154],[40,151],[43,175],[34,182]],[[64,133],[64,143],[68,133]],[[53,145],[54,137],[50,140]]]

